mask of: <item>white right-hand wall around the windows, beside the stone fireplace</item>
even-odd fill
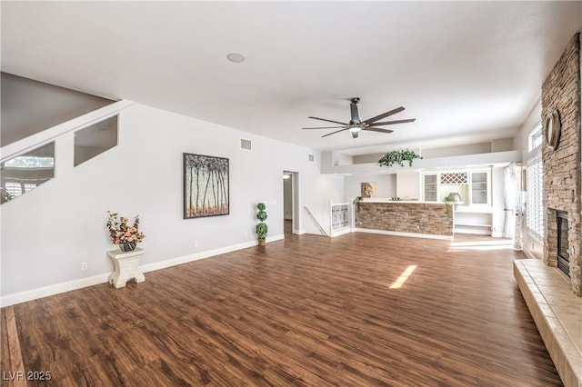
[[[532,107],[531,112],[527,115],[527,119],[521,128],[519,129],[519,134],[515,139],[515,144],[521,147],[523,154],[523,167],[527,168],[527,162],[537,155],[541,154],[541,147],[533,152],[529,152],[528,147],[528,135],[529,133],[539,124],[542,116],[542,105],[541,100],[538,100],[536,104]],[[523,243],[524,252],[531,257],[536,257],[538,259],[543,259],[544,257],[544,243],[543,241],[537,240],[532,233],[529,233],[527,229],[527,211],[524,210],[523,217]]]

